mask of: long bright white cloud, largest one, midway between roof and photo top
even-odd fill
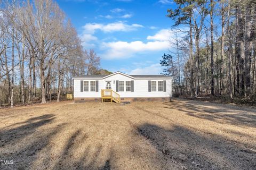
[[[102,48],[106,49],[106,53],[101,56],[106,59],[129,58],[136,53],[148,53],[159,50],[167,50],[170,46],[169,41],[150,41],[143,43],[142,41],[116,41],[103,43]]]

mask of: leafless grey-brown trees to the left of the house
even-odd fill
[[[0,106],[46,103],[73,90],[72,77],[105,74],[52,0],[0,1]]]

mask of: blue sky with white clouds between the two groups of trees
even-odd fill
[[[111,72],[159,74],[159,60],[170,48],[171,0],[58,0],[85,49],[101,57]]]

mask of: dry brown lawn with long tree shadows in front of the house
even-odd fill
[[[0,169],[256,169],[256,112],[170,103],[0,110]],[[1,162],[0,162],[1,164]]]

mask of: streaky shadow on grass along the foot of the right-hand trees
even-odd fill
[[[244,111],[243,108],[223,106],[221,104],[203,103],[200,101],[183,100],[175,103],[164,103],[164,108],[178,109],[189,116],[202,118],[217,123],[226,123],[237,126],[256,127],[256,113],[249,109]]]

